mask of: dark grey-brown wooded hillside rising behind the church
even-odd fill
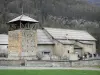
[[[100,6],[90,0],[0,0],[0,33],[7,33],[6,22],[23,12],[42,26],[83,29],[92,33],[100,49]]]

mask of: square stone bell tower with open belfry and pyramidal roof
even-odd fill
[[[37,20],[20,15],[8,22],[8,58],[33,60],[37,50]]]

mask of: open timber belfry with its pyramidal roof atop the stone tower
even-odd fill
[[[9,30],[17,30],[17,29],[33,29],[38,23],[37,20],[30,18],[24,14],[14,18],[13,20],[8,22]]]

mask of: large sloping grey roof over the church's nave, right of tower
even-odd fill
[[[58,40],[96,40],[92,35],[86,31],[70,30],[60,28],[44,28],[53,38]]]

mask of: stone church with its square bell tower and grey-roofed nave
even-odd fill
[[[26,15],[8,22],[8,58],[26,60],[79,60],[96,54],[96,39],[86,31],[36,28]]]

